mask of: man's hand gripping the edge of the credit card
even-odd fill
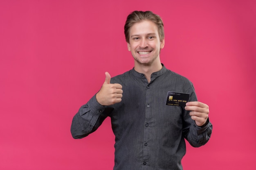
[[[187,102],[185,110],[191,111],[189,115],[192,120],[195,120],[195,124],[203,126],[208,119],[209,106],[202,102]]]

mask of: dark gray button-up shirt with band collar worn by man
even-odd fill
[[[123,86],[120,103],[102,106],[93,96],[74,116],[72,136],[79,139],[94,132],[110,116],[115,134],[114,170],[182,170],[186,153],[184,138],[194,147],[207,143],[212,125],[199,127],[184,107],[166,105],[167,92],[190,94],[196,101],[192,83],[165,67],[151,75],[134,69],[111,78]]]

